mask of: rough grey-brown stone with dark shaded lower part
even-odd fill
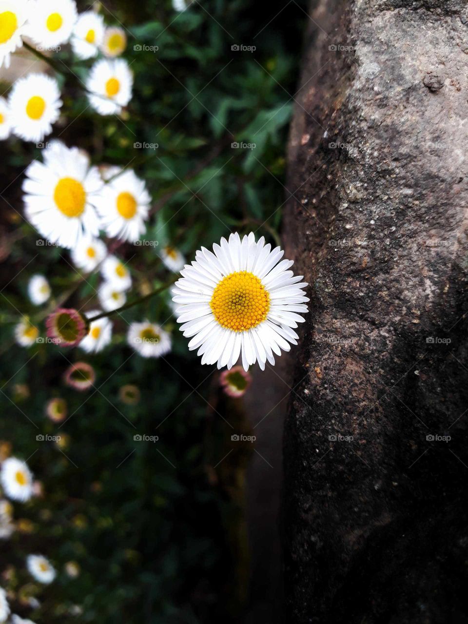
[[[284,232],[311,283],[285,426],[288,623],[468,622],[467,14],[311,8]]]

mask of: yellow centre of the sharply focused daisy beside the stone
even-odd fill
[[[236,271],[217,285],[210,308],[223,327],[247,331],[265,321],[270,310],[270,295],[256,275]]]

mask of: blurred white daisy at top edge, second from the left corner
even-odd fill
[[[56,49],[69,40],[76,18],[74,0],[36,0],[32,3],[27,34],[39,49]]]

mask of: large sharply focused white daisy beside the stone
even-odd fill
[[[242,240],[237,233],[222,238],[213,251],[197,251],[175,283],[180,330],[202,364],[230,369],[241,355],[245,371],[256,361],[263,370],[266,360],[275,364],[273,353],[297,344],[293,328],[304,321],[298,313],[308,311],[307,284],[288,271],[292,260],[280,262],[280,247],[271,250],[263,236],[255,242],[252,232]]]

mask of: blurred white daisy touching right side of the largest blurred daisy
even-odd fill
[[[102,187],[96,208],[101,227],[110,238],[134,243],[146,232],[151,197],[132,169],[120,171]]]

